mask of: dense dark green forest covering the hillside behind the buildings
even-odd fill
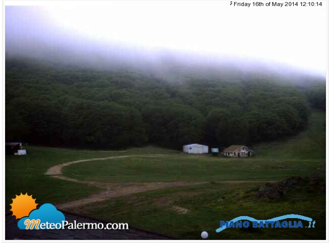
[[[325,82],[257,75],[168,82],[127,70],[6,58],[6,141],[119,148],[253,144],[303,130],[325,110]]]

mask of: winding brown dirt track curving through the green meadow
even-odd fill
[[[85,204],[104,201],[110,198],[124,196],[133,193],[139,192],[146,192],[151,190],[163,189],[163,188],[170,188],[170,187],[184,187],[184,186],[191,186],[191,185],[201,185],[210,183],[210,181],[175,181],[175,182],[168,182],[168,183],[101,183],[97,181],[87,181],[87,180],[77,180],[74,178],[70,178],[64,176],[62,174],[62,168],[76,164],[82,163],[87,161],[99,161],[99,160],[112,160],[112,159],[120,159],[120,158],[128,158],[128,157],[136,157],[136,158],[157,158],[166,155],[150,155],[150,156],[141,156],[141,155],[130,155],[130,156],[113,156],[113,157],[105,157],[105,158],[95,158],[95,159],[87,159],[87,160],[75,160],[66,162],[63,164],[55,165],[50,167],[46,175],[52,176],[54,178],[73,181],[75,183],[93,185],[102,189],[100,193],[93,194],[87,198],[78,199],[75,201],[70,201],[62,204],[57,204],[56,207],[60,209],[68,209],[73,207],[83,206]],[[251,180],[225,180],[219,181],[220,183],[255,183],[259,181],[251,181]],[[267,181],[271,182],[271,181]]]

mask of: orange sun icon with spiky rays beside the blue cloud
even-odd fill
[[[11,203],[11,211],[13,216],[16,216],[16,219],[21,219],[23,217],[29,216],[30,212],[37,208],[36,199],[32,198],[32,195],[29,196],[28,193],[16,195],[16,198],[13,198],[13,203]]]

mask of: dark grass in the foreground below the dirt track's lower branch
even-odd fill
[[[73,211],[112,222],[172,235],[180,239],[325,239],[325,194],[294,192],[285,199],[266,200],[255,196],[262,184],[207,184],[134,194],[90,204]],[[187,209],[180,214],[176,207]],[[220,221],[239,216],[271,219],[299,214],[316,220],[311,229],[226,229],[216,233]],[[304,224],[305,221],[303,221]],[[308,222],[305,222],[305,227]]]

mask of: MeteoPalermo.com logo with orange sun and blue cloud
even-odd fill
[[[55,229],[108,229],[128,230],[127,223],[69,223],[65,220],[63,212],[58,210],[51,203],[45,203],[37,208],[36,199],[26,194],[16,195],[11,203],[11,211],[16,219],[19,219],[17,226],[22,230],[55,230]]]

